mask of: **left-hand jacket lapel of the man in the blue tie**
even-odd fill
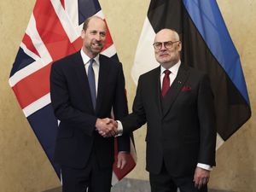
[[[75,63],[74,66],[78,77],[78,84],[81,87],[81,94],[84,96],[84,100],[88,103],[88,106],[90,106],[91,110],[94,111],[90,97],[90,86],[80,51],[74,55],[73,61]]]

